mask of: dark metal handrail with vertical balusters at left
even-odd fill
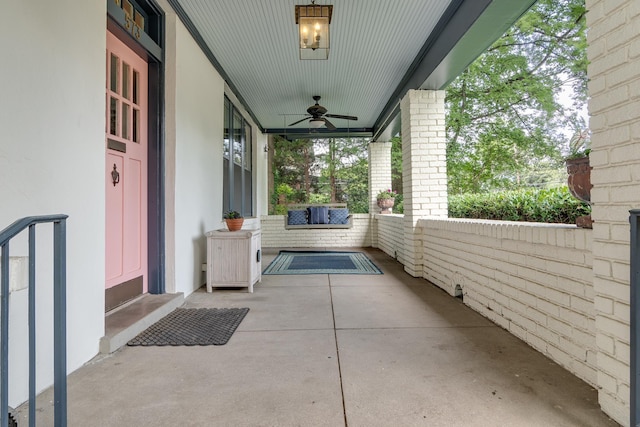
[[[9,425],[9,243],[29,229],[29,425],[36,425],[36,224],[53,223],[53,390],[54,423],[67,425],[66,276],[68,215],[29,216],[0,232],[0,426]]]

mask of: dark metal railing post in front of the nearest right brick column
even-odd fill
[[[631,216],[629,222],[631,223],[631,253],[630,253],[630,310],[631,310],[631,375],[630,375],[630,394],[631,394],[631,425],[637,426],[640,422],[640,381],[638,381],[638,368],[640,367],[640,354],[638,353],[638,344],[640,343],[640,301],[638,300],[638,286],[640,286],[640,209],[633,209],[629,211]]]

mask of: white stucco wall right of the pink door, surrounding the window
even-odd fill
[[[224,96],[243,117],[249,114],[169,5],[165,48],[165,199],[167,292],[189,295],[204,284],[205,232],[224,228]],[[253,132],[254,207],[256,218],[267,206],[266,135]],[[259,227],[247,218],[245,228]]]

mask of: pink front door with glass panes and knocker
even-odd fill
[[[147,74],[107,32],[106,310],[147,292]]]

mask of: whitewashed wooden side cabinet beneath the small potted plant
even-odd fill
[[[207,232],[207,292],[214,287],[248,288],[262,280],[260,230]]]

